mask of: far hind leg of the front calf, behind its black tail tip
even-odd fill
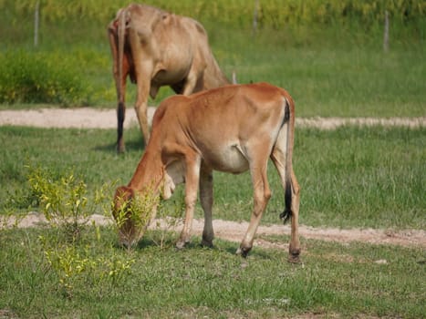
[[[276,170],[278,170],[278,174],[280,176],[281,184],[285,190],[285,194],[291,194],[291,209],[289,212],[290,215],[288,217],[291,218],[291,238],[289,245],[289,261],[290,262],[298,262],[300,255],[300,242],[298,235],[298,217],[299,217],[299,201],[300,201],[300,187],[296,180],[296,175],[293,170],[291,170],[291,185],[288,185],[286,182],[286,154],[283,152],[278,146],[275,147],[271,159],[275,164]],[[291,190],[287,190],[288,187],[291,187]],[[290,192],[291,191],[291,192]],[[286,195],[285,195],[286,197]],[[287,208],[286,208],[287,210]],[[286,215],[286,213],[283,213]],[[287,216],[284,216],[285,218]]]

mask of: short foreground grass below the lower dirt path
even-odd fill
[[[89,251],[92,260],[134,260],[131,273],[111,283],[83,272],[64,294],[37,239],[55,238],[54,230],[0,232],[0,257],[7,261],[0,263],[0,309],[22,318],[420,318],[425,312],[426,255],[418,248],[302,240],[304,264],[294,265],[287,252],[258,247],[241,259],[237,243],[220,240],[213,250],[199,247],[200,238],[181,252],[172,242],[161,249],[152,242],[155,232],[128,254],[114,246],[114,232],[100,233],[100,240],[88,234],[78,251]]]

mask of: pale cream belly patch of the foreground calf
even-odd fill
[[[207,153],[208,156],[204,154],[203,160],[213,170],[239,174],[249,169],[249,163],[244,155],[244,150],[239,145],[234,144],[215,152],[207,151]]]

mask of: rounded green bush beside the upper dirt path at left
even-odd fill
[[[0,54],[0,103],[88,103],[82,74],[55,53],[13,50]]]

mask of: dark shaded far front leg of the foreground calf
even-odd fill
[[[206,247],[213,247],[213,174],[212,170],[207,170],[206,168],[203,168],[203,166],[200,175],[200,201],[204,211],[202,245]]]

